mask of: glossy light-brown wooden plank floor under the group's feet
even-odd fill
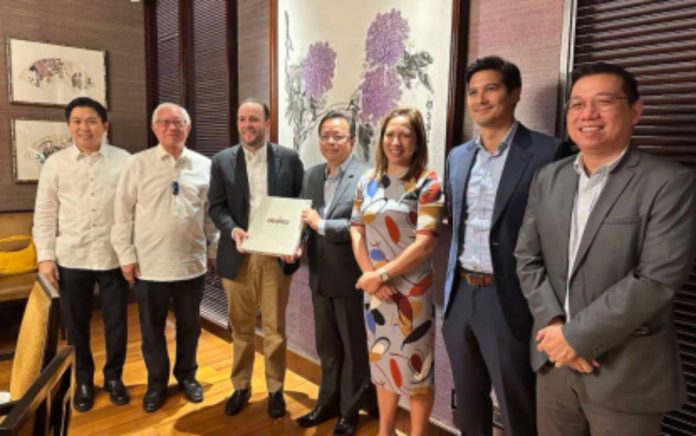
[[[198,375],[203,385],[205,400],[199,404],[186,401],[178,390],[176,381],[169,381],[169,392],[164,406],[155,413],[142,410],[142,398],[146,390],[147,374],[140,352],[140,327],[137,307],[128,310],[128,352],[123,381],[131,394],[131,402],[114,406],[108,394],[97,388],[94,409],[87,413],[73,411],[70,433],[74,435],[330,435],[335,425],[331,420],[319,427],[302,429],[295,419],[311,410],[317,398],[318,388],[305,378],[288,371],[285,379],[285,401],[288,413],[280,419],[272,419],[266,412],[266,387],[263,357],[257,353],[252,380],[252,397],[239,415],[224,414],[224,406],[232,391],[229,379],[232,362],[232,346],[217,336],[203,331],[198,349]],[[104,336],[101,312],[92,319],[92,349],[97,368],[104,362]],[[174,324],[167,323],[167,341],[170,359],[174,362]],[[0,363],[0,390],[7,389],[9,366]],[[95,386],[102,385],[102,374],[95,374]],[[377,434],[377,420],[361,414],[359,435]]]

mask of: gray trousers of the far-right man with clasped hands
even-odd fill
[[[537,375],[541,436],[659,436],[662,413],[628,413],[590,401],[583,374],[546,365]],[[618,406],[618,404],[617,404]]]

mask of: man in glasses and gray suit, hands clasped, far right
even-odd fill
[[[673,302],[696,254],[696,181],[631,144],[642,111],[623,68],[576,68],[566,121],[580,154],[530,188],[515,255],[542,435],[658,435],[686,400]]]

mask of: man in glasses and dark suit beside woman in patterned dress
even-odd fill
[[[355,290],[361,272],[350,239],[355,190],[369,167],[352,155],[354,143],[353,119],[341,112],[327,113],[319,123],[319,149],[326,163],[307,171],[302,195],[312,200],[313,207],[304,211],[302,219],[307,225],[321,386],[314,409],[297,423],[313,427],[340,415],[336,435],[355,432],[363,399],[373,391],[363,295]]]

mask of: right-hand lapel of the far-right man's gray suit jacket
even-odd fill
[[[626,156],[626,165],[621,165],[621,163],[619,163],[619,168],[616,168],[611,174],[609,174],[609,180],[607,180],[607,184],[604,186],[604,190],[599,195],[597,204],[595,204],[594,208],[592,209],[590,217],[587,220],[587,224],[585,225],[585,230],[582,233],[582,239],[580,239],[580,246],[578,247],[578,252],[575,255],[575,264],[573,265],[573,271],[570,278],[575,275],[575,272],[578,270],[578,266],[582,263],[583,258],[590,248],[590,245],[592,245],[592,241],[594,241],[595,236],[597,236],[599,228],[602,226],[604,218],[607,216],[609,211],[611,211],[612,207],[619,199],[619,196],[624,189],[626,189],[626,186],[628,186],[628,183],[633,178],[635,173],[628,169],[628,167],[635,165],[637,160],[638,157],[632,153],[631,155]]]

